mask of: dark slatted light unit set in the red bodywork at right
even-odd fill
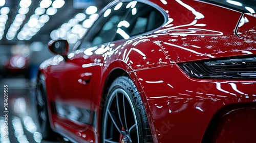
[[[256,79],[256,58],[227,59],[181,63],[180,67],[193,78]]]

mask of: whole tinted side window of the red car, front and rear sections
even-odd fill
[[[154,30],[163,22],[163,15],[151,6],[136,1],[118,3],[106,10],[93,24],[80,49],[113,40],[128,39]]]

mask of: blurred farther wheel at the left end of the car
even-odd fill
[[[44,139],[52,139],[56,133],[53,132],[50,126],[46,87],[43,75],[40,75],[36,84],[36,119],[39,131]]]

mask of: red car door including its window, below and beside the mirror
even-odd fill
[[[87,32],[76,51],[66,60],[51,67],[55,105],[59,117],[75,125],[93,125],[95,113],[93,101],[98,99],[96,91],[100,83],[103,59],[100,49],[107,47],[114,39],[118,23],[123,19],[128,2],[112,6],[98,18]],[[94,86],[96,85],[96,86]]]

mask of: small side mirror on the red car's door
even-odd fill
[[[51,40],[48,43],[48,48],[52,53],[66,58],[69,52],[69,43],[67,40]]]

